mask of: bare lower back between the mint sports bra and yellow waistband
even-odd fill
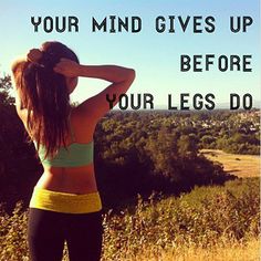
[[[72,168],[44,166],[44,173],[35,187],[77,195],[95,192],[97,185],[94,165]]]

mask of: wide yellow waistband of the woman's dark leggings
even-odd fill
[[[102,201],[98,191],[76,195],[34,187],[29,207],[63,213],[88,213],[100,211]]]

